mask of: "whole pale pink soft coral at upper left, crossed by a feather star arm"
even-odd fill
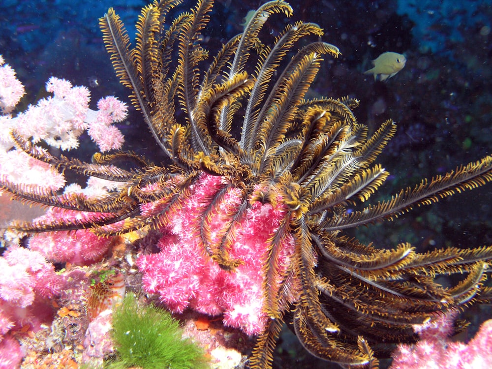
[[[62,174],[17,150],[10,132],[15,130],[34,143],[43,140],[52,147],[70,150],[79,145],[79,136],[87,130],[100,151],[120,149],[123,134],[113,123],[126,118],[127,106],[107,96],[99,100],[97,111],[91,110],[86,87],[72,86],[56,77],[49,79],[46,91],[53,95],[16,116],[9,114],[24,94],[24,86],[0,56],[0,175],[9,182],[57,190],[64,185]]]

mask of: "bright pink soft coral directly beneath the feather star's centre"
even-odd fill
[[[140,256],[137,265],[144,273],[146,291],[159,294],[160,300],[171,311],[183,312],[186,307],[191,307],[209,315],[223,313],[225,325],[257,335],[268,319],[264,313],[263,285],[266,281],[262,265],[267,259],[268,240],[278,229],[286,209],[280,203],[272,206],[253,202],[245,217],[234,225],[235,240],[228,250],[230,258],[240,260],[241,264],[232,271],[223,270],[199,244],[198,229],[202,219],[196,217],[199,208],[210,204],[211,195],[221,181],[219,177],[202,175],[191,187],[192,194],[168,216],[171,225],[161,229],[160,252]],[[218,212],[213,212],[207,220],[210,239],[219,234],[225,225],[224,214],[239,201],[238,191],[229,190],[216,204]],[[142,212],[152,213],[148,207]],[[294,248],[290,236],[281,248],[277,265],[285,269]],[[296,294],[295,280],[292,276],[289,278],[290,296],[286,296],[285,302],[292,301]]]

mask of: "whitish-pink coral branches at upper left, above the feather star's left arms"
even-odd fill
[[[84,130],[92,130],[91,137],[101,151],[120,149],[123,134],[112,124],[126,118],[127,106],[114,96],[107,96],[97,103],[98,110],[89,108],[91,93],[84,86],[72,86],[69,81],[51,77],[46,91],[53,96],[43,98],[30,105],[16,117],[6,115],[13,110],[24,94],[24,86],[17,80],[15,71],[4,64],[0,56],[0,136],[4,150],[13,147],[8,136],[15,129],[34,142],[44,140],[48,145],[62,150],[78,146],[78,138]]]

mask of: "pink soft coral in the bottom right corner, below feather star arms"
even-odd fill
[[[482,324],[467,344],[450,340],[457,312],[442,314],[415,326],[420,341],[400,344],[390,369],[481,369],[492,368],[492,319]]]

